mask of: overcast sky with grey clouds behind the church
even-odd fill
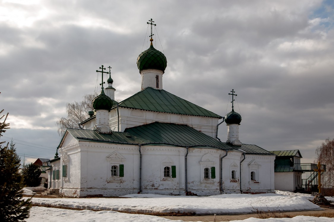
[[[151,18],[164,90],[224,116],[234,89],[242,143],[313,162],[334,138],[333,1],[0,2],[0,109],[11,127],[0,140],[13,138],[27,162],[53,158],[56,121],[100,90],[101,65],[112,67],[117,100],[140,91]]]

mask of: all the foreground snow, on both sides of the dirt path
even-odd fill
[[[157,216],[128,214],[123,212],[195,212],[197,214],[252,213],[255,209],[271,211],[317,210],[308,194],[277,191],[276,194],[221,194],[207,197],[164,196],[155,194],[131,194],[131,198],[32,198],[33,203],[64,206],[82,211],[57,208],[33,207],[29,221],[173,221]],[[87,210],[88,209],[88,210]],[[91,211],[101,210],[101,211]],[[114,210],[114,211],[113,211]],[[180,221],[180,220],[179,220]],[[242,222],[290,222],[334,221],[333,218],[298,216],[294,218],[249,218]],[[234,221],[236,222],[236,221]]]

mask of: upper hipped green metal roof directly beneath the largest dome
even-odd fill
[[[119,103],[119,107],[222,118],[220,115],[190,103],[165,90],[157,90],[152,87],[147,87],[128,99],[123,100]]]

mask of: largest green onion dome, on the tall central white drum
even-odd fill
[[[153,41],[153,39],[151,40]],[[144,69],[157,69],[165,71],[167,67],[166,56],[153,47],[152,41],[150,48],[148,48],[148,50],[145,50],[138,56],[137,67],[139,71],[142,71]]]

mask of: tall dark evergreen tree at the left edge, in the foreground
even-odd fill
[[[8,113],[2,115],[0,111],[0,137],[9,127],[6,123]],[[20,158],[16,154],[13,143],[3,145],[0,142],[0,221],[24,221],[29,217],[30,199],[22,199],[23,180],[19,173]]]

